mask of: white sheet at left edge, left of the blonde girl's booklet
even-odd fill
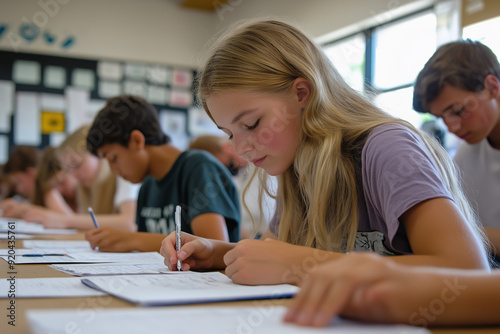
[[[105,293],[86,287],[78,277],[16,278],[12,282],[15,282],[15,289],[13,291],[15,291],[16,298],[91,297],[106,295]],[[8,298],[10,283],[8,278],[0,280],[0,298]]]

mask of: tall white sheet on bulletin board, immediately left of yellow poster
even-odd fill
[[[27,121],[29,120],[29,122]],[[40,145],[40,106],[37,93],[17,93],[14,118],[14,142],[17,145]]]

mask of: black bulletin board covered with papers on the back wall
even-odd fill
[[[1,50],[0,64],[0,164],[15,145],[57,146],[120,94],[153,104],[180,149],[192,136],[219,131],[194,105],[194,69]]]

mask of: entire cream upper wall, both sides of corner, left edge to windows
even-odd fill
[[[243,18],[279,16],[314,37],[334,38],[436,1],[231,0],[209,13],[178,0],[0,0],[0,49],[196,67],[214,33]],[[27,22],[40,28],[31,42],[20,36]]]

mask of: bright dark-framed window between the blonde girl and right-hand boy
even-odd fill
[[[429,116],[412,108],[413,83],[436,47],[456,38],[457,10],[443,1],[332,41],[324,50],[353,88],[370,89],[377,106],[420,128]]]

